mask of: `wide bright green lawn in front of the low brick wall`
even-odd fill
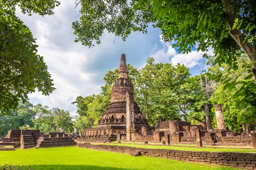
[[[196,164],[154,157],[133,157],[78,147],[54,147],[0,152],[0,170],[231,170],[210,164]],[[13,168],[13,167],[12,167]]]

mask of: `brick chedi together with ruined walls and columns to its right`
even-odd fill
[[[185,121],[158,122],[149,127],[147,119],[134,101],[134,88],[127,77],[125,54],[121,55],[119,77],[114,81],[111,103],[95,128],[84,129],[77,142],[112,142],[115,140],[215,145],[250,145],[252,137],[226,130],[221,105],[215,105],[218,129],[207,130],[205,122],[191,125]],[[198,134],[198,135],[197,135]],[[255,138],[256,142],[256,138]],[[256,146],[256,144],[255,144]]]

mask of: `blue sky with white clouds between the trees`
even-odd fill
[[[104,85],[103,77],[109,70],[119,67],[121,54],[126,55],[127,63],[140,69],[148,57],[156,62],[184,64],[192,75],[198,74],[194,66],[202,60],[202,53],[196,49],[189,54],[178,54],[172,48],[174,42],[163,42],[161,31],[149,27],[148,34],[133,32],[125,42],[113,34],[104,32],[101,44],[93,48],[74,42],[72,22],[79,20],[79,8],[74,1],[60,0],[61,5],[54,9],[54,15],[22,14],[16,15],[29,27],[36,40],[38,54],[44,56],[44,62],[52,76],[56,90],[49,96],[40,92],[29,94],[33,105],[41,103],[49,108],[58,107],[76,115],[76,106],[71,103],[77,96],[99,94]],[[113,41],[115,40],[115,43]],[[208,54],[212,54],[209,48]]]

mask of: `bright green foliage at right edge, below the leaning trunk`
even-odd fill
[[[218,102],[218,104],[223,105],[224,117],[227,118],[226,125],[233,130],[234,122],[239,129],[241,123],[249,124],[256,119],[256,91],[253,88],[252,73],[247,67],[250,62],[245,55],[237,57],[237,61],[239,68],[236,71],[229,71],[229,66],[226,64],[221,65],[221,67],[213,65],[209,68],[212,77],[216,78],[216,74],[223,75],[220,78],[221,84],[216,87],[211,101],[214,104]]]

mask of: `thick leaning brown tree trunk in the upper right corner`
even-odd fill
[[[230,7],[230,1],[229,0],[221,0],[222,3],[225,5],[225,11],[227,12],[226,20],[228,23],[228,26],[230,28],[230,34],[233,37],[233,39],[236,41],[236,43],[242,48],[242,50],[245,52],[247,57],[250,59],[250,61],[256,60],[256,45],[252,45],[249,42],[247,42],[244,39],[244,34],[241,33],[240,30],[237,30],[236,28],[232,30],[232,27],[235,23],[235,17],[233,15],[233,12]],[[253,79],[256,85],[256,63],[252,65],[253,72]]]

